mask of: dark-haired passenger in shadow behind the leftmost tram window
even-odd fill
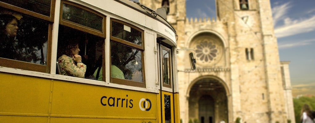
[[[0,15],[0,57],[14,59],[16,56],[15,36],[17,34],[18,20],[11,14]]]

